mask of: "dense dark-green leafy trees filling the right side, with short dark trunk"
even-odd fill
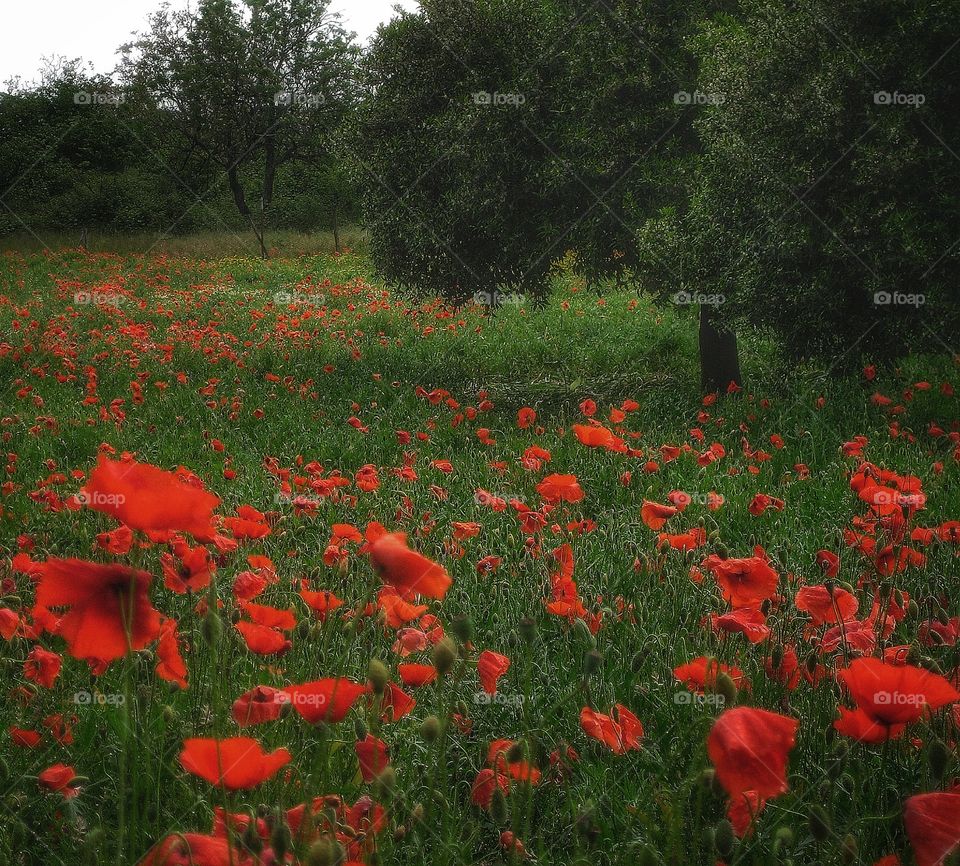
[[[956,351],[955,0],[424,0],[366,59],[375,263],[538,294],[573,251],[798,357]],[[951,348],[952,347],[952,348]]]

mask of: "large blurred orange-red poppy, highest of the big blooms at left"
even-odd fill
[[[220,504],[192,477],[102,454],[80,499],[133,529],[189,532],[201,541],[213,540],[213,509]]]

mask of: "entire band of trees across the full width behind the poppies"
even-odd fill
[[[960,326],[956,0],[326,0],[162,10],[116,74],[0,99],[0,232],[330,228],[455,300],[595,286],[856,362]],[[358,205],[358,202],[360,203]],[[478,293],[480,293],[478,295]]]

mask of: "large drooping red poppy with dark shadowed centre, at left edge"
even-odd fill
[[[36,608],[68,608],[57,633],[70,655],[110,662],[159,635],[160,612],[148,595],[151,580],[147,572],[123,565],[51,558],[37,583]]]

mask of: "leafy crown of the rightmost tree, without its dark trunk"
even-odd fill
[[[794,357],[945,345],[960,324],[955,10],[750,0],[697,42],[689,209],[664,229],[689,289]]]

